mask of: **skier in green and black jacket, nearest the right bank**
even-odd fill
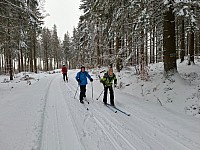
[[[113,73],[113,69],[109,68],[108,72],[104,74],[103,78],[100,79],[100,82],[104,86],[104,97],[103,97],[103,102],[105,105],[107,105],[107,93],[108,89],[110,91],[110,104],[112,106],[115,106],[114,104],[114,91],[113,91],[113,84],[114,81],[114,87],[117,86],[117,78],[116,75]]]

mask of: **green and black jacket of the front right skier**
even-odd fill
[[[103,83],[104,86],[112,86],[113,81],[114,81],[114,84],[117,84],[117,78],[114,73],[112,76],[109,76],[108,73],[105,73],[103,78],[101,78],[100,80],[100,82]]]

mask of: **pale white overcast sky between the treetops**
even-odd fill
[[[77,27],[81,15],[79,6],[80,0],[46,0],[45,10],[50,16],[44,19],[44,26],[52,29],[56,24],[58,37],[61,40],[67,31],[72,36],[73,28]]]

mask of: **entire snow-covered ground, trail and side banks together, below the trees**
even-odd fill
[[[146,82],[134,68],[124,68],[117,74],[115,104],[130,116],[104,106],[102,96],[96,100],[104,69],[90,71],[94,82],[84,105],[79,91],[74,99],[79,70],[69,71],[68,83],[61,73],[21,73],[12,82],[0,76],[0,149],[199,150],[199,68],[180,64],[175,82],[163,79],[163,64],[149,68]]]

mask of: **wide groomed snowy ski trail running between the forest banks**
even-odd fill
[[[98,97],[102,86],[94,80],[94,100],[87,85],[85,107],[79,102],[75,71],[69,83],[61,74],[1,99],[0,149],[3,150],[199,150],[199,119],[115,90],[116,105],[131,116],[114,113]],[[89,111],[86,110],[89,108]]]

